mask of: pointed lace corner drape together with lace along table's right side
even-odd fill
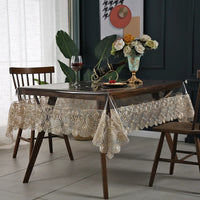
[[[99,146],[102,153],[107,153],[108,158],[120,152],[121,145],[129,141],[127,135],[134,130],[175,119],[191,121],[194,110],[187,94],[111,109],[110,116],[106,111],[102,113],[93,139],[93,144]]]

